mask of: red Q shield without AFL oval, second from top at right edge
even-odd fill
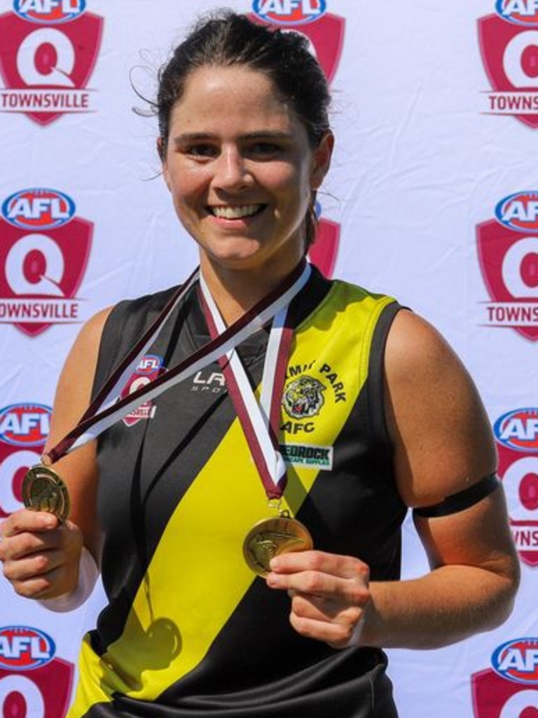
[[[477,242],[483,280],[494,302],[487,307],[487,323],[538,340],[538,237],[490,220],[478,225]]]

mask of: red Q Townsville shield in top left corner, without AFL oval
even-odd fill
[[[85,13],[62,24],[38,25],[0,15],[1,111],[47,125],[64,113],[90,111],[85,87],[95,67],[103,18]]]

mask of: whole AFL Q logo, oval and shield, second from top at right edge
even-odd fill
[[[537,192],[516,192],[496,205],[495,220],[476,228],[478,262],[491,302],[483,325],[511,327],[538,340]]]

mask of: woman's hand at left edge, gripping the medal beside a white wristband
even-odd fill
[[[0,525],[4,576],[19,596],[55,598],[77,586],[82,533],[52,513],[22,509]]]

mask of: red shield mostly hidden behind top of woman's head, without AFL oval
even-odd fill
[[[313,55],[316,55],[319,64],[324,70],[327,81],[329,83],[332,82],[338,69],[342,47],[344,45],[344,27],[346,21],[343,17],[325,13],[319,20],[299,26],[293,24],[279,24],[277,26],[269,22],[263,22],[263,20],[255,14],[249,14],[248,18],[253,22],[268,25],[268,27],[273,27],[274,29],[292,30],[293,32],[306,35],[311,42]]]

